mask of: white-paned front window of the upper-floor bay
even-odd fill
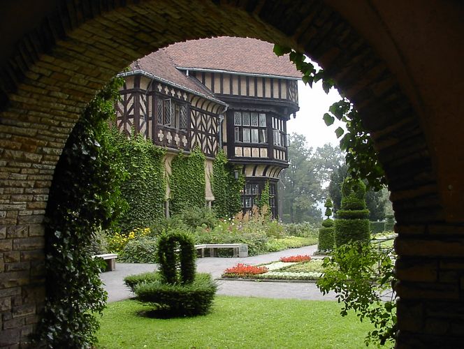
[[[266,113],[233,112],[235,142],[267,143]]]

